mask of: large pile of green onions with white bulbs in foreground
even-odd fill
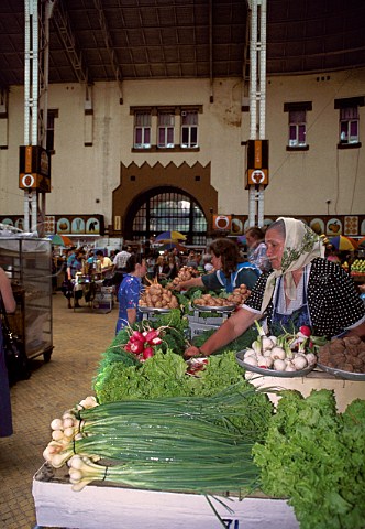
[[[56,467],[68,461],[75,490],[93,479],[163,490],[247,490],[258,479],[251,455],[257,435],[239,431],[231,419],[251,412],[255,401],[247,397],[254,392],[240,382],[214,397],[120,401],[78,410],[74,434],[67,431],[57,441],[62,450],[45,457]]]

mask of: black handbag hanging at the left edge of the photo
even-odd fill
[[[2,325],[2,343],[8,369],[9,384],[19,380],[27,380],[31,376],[30,363],[25,353],[24,344],[9,325],[7,310],[0,293],[0,314]]]

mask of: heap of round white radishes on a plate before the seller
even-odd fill
[[[300,371],[317,363],[317,356],[306,349],[311,338],[311,331],[306,325],[296,334],[266,336],[261,325],[255,323],[258,336],[245,350],[245,364],[276,371]]]

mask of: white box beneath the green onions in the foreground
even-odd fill
[[[66,481],[49,478],[48,465],[33,478],[36,521],[43,528],[222,529],[204,496],[95,484],[75,493]],[[285,500],[211,498],[228,529],[299,529]]]

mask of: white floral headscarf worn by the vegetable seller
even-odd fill
[[[324,246],[321,238],[301,220],[279,217],[285,224],[285,242],[281,258],[281,268],[274,270],[267,278],[261,312],[264,313],[269,304],[276,278],[285,276],[285,293],[289,300],[297,298],[297,288],[292,279],[295,270],[306,267],[317,257],[324,257]]]

